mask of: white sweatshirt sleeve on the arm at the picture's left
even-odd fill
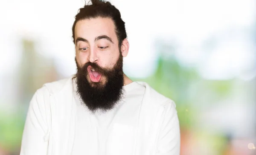
[[[46,86],[38,89],[29,103],[20,155],[47,155],[50,107]]]

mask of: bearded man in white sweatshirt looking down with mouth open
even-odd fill
[[[20,155],[179,155],[175,103],[123,73],[119,10],[92,0],[72,30],[77,73],[36,91]]]

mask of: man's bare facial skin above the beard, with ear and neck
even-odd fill
[[[97,17],[80,20],[75,27],[76,60],[79,67],[87,62],[96,62],[102,68],[113,68],[119,57],[118,39],[115,25],[110,18]],[[129,42],[122,41],[121,54],[127,56]],[[132,82],[125,74],[124,85]],[[91,83],[90,77],[87,80]],[[102,76],[100,82],[105,83],[106,77]]]

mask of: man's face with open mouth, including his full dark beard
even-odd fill
[[[122,99],[122,54],[113,21],[108,18],[76,23],[77,93],[92,112],[110,110]]]

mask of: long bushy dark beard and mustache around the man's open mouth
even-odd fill
[[[119,58],[113,68],[102,68],[94,62],[87,62],[80,68],[76,61],[76,93],[82,104],[86,105],[92,113],[98,110],[105,113],[113,109],[122,100],[124,95],[122,64],[122,54],[119,54]],[[99,82],[88,80],[90,79],[87,71],[88,66],[91,66],[101,74]],[[102,79],[105,80],[102,81]]]

